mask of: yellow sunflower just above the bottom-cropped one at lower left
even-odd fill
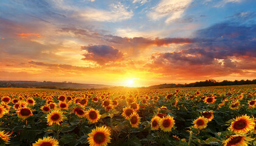
[[[46,116],[46,119],[47,119],[48,125],[54,125],[54,123],[60,125],[60,122],[62,122],[63,120],[62,111],[59,111],[59,110],[52,111]]]

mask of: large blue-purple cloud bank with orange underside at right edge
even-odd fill
[[[256,72],[255,32],[256,24],[215,24],[197,30],[194,43],[182,46],[180,51],[152,54],[145,68],[175,77],[252,75]]]

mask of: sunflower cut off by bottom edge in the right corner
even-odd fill
[[[229,136],[225,141],[222,143],[224,146],[247,146],[249,141],[252,141],[251,137],[243,136],[243,135],[232,135]]]

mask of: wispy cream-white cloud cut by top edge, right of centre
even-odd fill
[[[171,23],[182,17],[191,2],[192,0],[162,0],[148,13],[148,17],[153,20],[165,18],[165,23]]]

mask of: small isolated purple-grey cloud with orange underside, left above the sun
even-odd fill
[[[82,50],[87,50],[86,54],[83,54],[85,58],[82,60],[96,61],[98,64],[105,64],[110,61],[121,61],[124,58],[124,54],[118,49],[114,49],[112,46],[107,45],[89,45],[82,46]]]

